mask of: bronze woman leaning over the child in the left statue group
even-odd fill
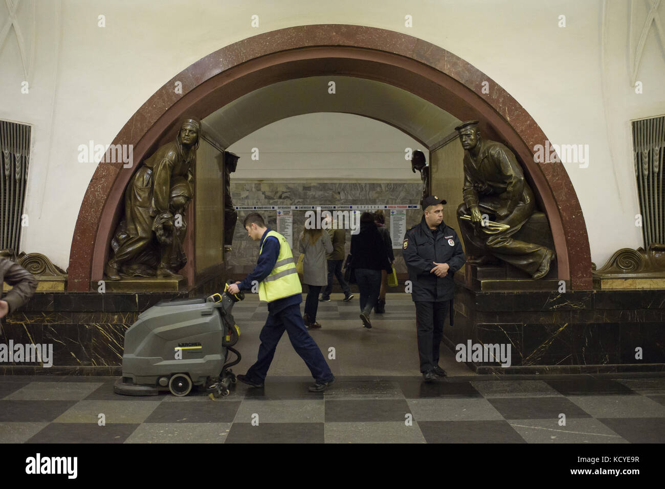
[[[158,215],[170,212],[172,181],[184,177],[194,188],[194,164],[199,147],[200,124],[188,119],[180,126],[176,140],[161,146],[144,161],[136,171],[125,191],[126,239],[118,246],[113,258],[108,260],[104,273],[110,280],[120,280],[120,272],[128,272],[139,255],[155,241],[153,225]],[[171,265],[171,246],[158,241],[160,262],[155,271],[157,277],[182,278]],[[128,272],[128,273],[127,273]],[[145,276],[144,274],[141,274]],[[151,273],[152,275],[152,273]]]

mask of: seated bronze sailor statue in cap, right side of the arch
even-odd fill
[[[471,255],[467,263],[482,265],[498,258],[534,279],[543,278],[555,252],[512,238],[535,209],[533,191],[515,155],[503,144],[481,138],[477,120],[455,129],[464,147],[464,203],[457,215]]]

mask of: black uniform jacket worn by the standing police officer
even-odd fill
[[[402,256],[412,283],[411,298],[414,302],[452,300],[455,292],[454,272],[460,270],[466,262],[462,243],[455,230],[443,221],[438,225],[438,230],[435,243],[432,230],[423,216],[420,224],[404,235]],[[430,272],[436,266],[433,262],[448,263],[448,274],[438,277]]]

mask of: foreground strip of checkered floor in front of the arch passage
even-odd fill
[[[311,377],[269,377],[215,401],[116,395],[110,377],[2,377],[0,443],[665,440],[665,377],[524,377],[341,376],[325,393],[307,391]]]

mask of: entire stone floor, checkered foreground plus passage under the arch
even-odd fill
[[[397,294],[396,294],[397,296]],[[287,335],[265,387],[238,383],[227,397],[116,395],[111,377],[0,377],[0,443],[464,442],[657,443],[665,440],[665,376],[659,374],[475,375],[442,346],[449,377],[418,371],[414,306],[389,297],[386,314],[360,325],[357,296],[319,305],[313,338],[337,381],[313,379]],[[267,310],[236,304],[243,353],[256,359]],[[563,423],[565,416],[565,424]],[[102,423],[103,421],[103,423]]]

